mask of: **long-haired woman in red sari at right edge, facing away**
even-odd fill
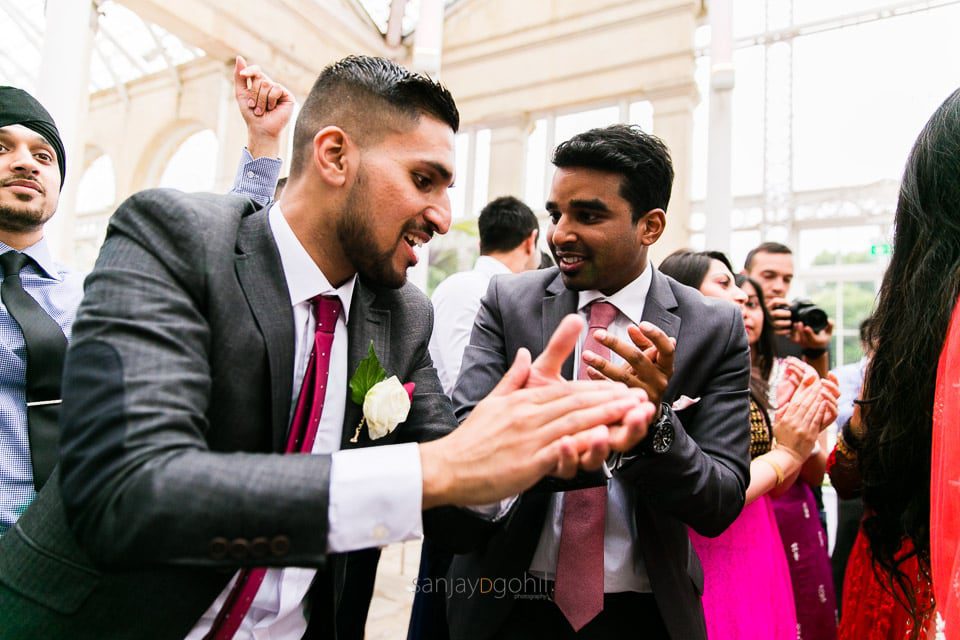
[[[910,152],[895,228],[871,323],[876,351],[860,415],[843,429],[835,471],[856,460],[867,509],[869,557],[851,564],[861,570],[875,564],[881,584],[915,623],[912,637],[960,637],[960,90],[937,109]],[[856,568],[848,568],[848,577]],[[873,615],[867,604],[852,607],[844,607],[841,627]]]

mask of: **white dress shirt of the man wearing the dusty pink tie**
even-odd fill
[[[599,291],[581,291],[577,309],[581,317],[588,319],[588,304],[594,300],[606,300],[617,308],[617,317],[607,330],[618,338],[630,341],[627,327],[640,324],[643,307],[650,291],[653,272],[649,263],[636,280],[617,291],[605,296]],[[574,358],[574,378],[580,370],[580,349],[587,335],[585,329],[577,343]],[[612,353],[614,363],[622,362]],[[649,592],[650,579],[643,558],[637,551],[637,525],[634,520],[634,504],[637,489],[614,476],[607,483],[607,518],[603,532],[603,590],[605,593],[621,591]],[[563,524],[563,493],[555,493],[550,499],[547,518],[540,533],[540,541],[530,562],[530,572],[534,575],[554,580],[557,574],[557,551],[560,548],[560,530]]]

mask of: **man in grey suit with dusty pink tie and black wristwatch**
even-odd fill
[[[565,314],[594,308],[606,309],[605,328],[584,332],[592,342],[563,376],[643,388],[658,416],[612,461],[609,482],[539,485],[486,546],[455,558],[451,637],[705,638],[703,572],[687,527],[718,535],[743,507],[750,363],[741,315],[647,260],[673,181],[660,140],[625,125],[595,129],[561,144],[553,162],[547,238],[558,269],[491,282],[454,390],[457,417],[479,406],[510,353],[538,353]],[[599,517],[587,515],[594,507]],[[583,536],[591,526],[596,535]]]

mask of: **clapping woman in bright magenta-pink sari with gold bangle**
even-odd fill
[[[723,254],[676,252],[660,270],[708,297],[737,303],[755,361],[772,362],[773,328],[762,290],[737,286]],[[797,619],[790,571],[774,518],[771,496],[793,484],[824,425],[836,415],[832,381],[800,361],[788,365],[790,382],[771,424],[767,411],[769,370],[756,370],[750,393],[750,485],[740,516],[716,538],[690,531],[703,564],[703,610],[710,640],[795,640]]]

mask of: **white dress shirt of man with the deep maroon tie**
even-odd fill
[[[317,295],[335,295],[343,305],[334,329],[323,415],[313,444],[313,453],[333,454],[327,549],[340,553],[419,538],[423,535],[419,446],[410,443],[339,451],[350,374],[347,371],[347,323],[356,276],[334,288],[290,229],[280,205],[271,207],[269,222],[293,306],[295,358],[291,415],[313,348],[316,320],[310,299]],[[267,571],[234,638],[294,640],[303,636],[307,628],[303,603],[315,574],[315,569],[301,568]],[[210,630],[235,581],[236,576],[201,616],[187,635],[188,640],[200,640]]]

